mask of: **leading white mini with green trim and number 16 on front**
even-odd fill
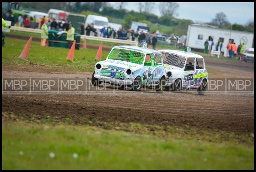
[[[130,86],[140,90],[149,86],[162,93],[165,86],[165,68],[159,51],[137,46],[115,46],[104,61],[95,64],[92,84],[101,82]]]

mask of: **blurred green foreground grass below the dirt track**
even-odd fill
[[[2,164],[2,169],[254,169],[254,147],[89,126],[5,122]]]

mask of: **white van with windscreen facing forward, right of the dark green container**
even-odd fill
[[[88,15],[85,20],[85,27],[87,24],[92,24],[95,29],[102,29],[104,26],[108,27],[108,18],[96,15]]]

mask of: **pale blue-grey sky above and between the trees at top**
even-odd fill
[[[110,3],[114,8],[117,8],[119,3]],[[154,14],[160,16],[158,5],[159,2],[155,3]],[[209,22],[218,12],[224,12],[228,18],[228,21],[233,23],[245,24],[249,19],[254,20],[254,3],[238,3],[238,2],[227,2],[227,3],[190,3],[190,2],[179,2],[180,6],[177,10],[179,16],[175,16],[179,19],[190,19],[194,22]],[[136,2],[127,2],[124,4],[124,8],[127,10],[139,11],[138,4]]]

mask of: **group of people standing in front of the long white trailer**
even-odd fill
[[[218,42],[215,44],[215,51],[221,51],[222,45],[223,43],[219,39]],[[208,53],[208,46],[209,46],[209,42],[208,42],[208,39],[206,39],[206,41],[204,42],[204,53]],[[212,41],[210,50],[213,50],[213,46],[214,46],[214,42]],[[233,57],[236,57],[237,60],[244,61],[244,53],[245,53],[244,43],[240,43],[237,47],[236,43],[232,43],[232,40],[229,40],[226,46],[226,49],[228,51],[230,59],[232,59]]]

